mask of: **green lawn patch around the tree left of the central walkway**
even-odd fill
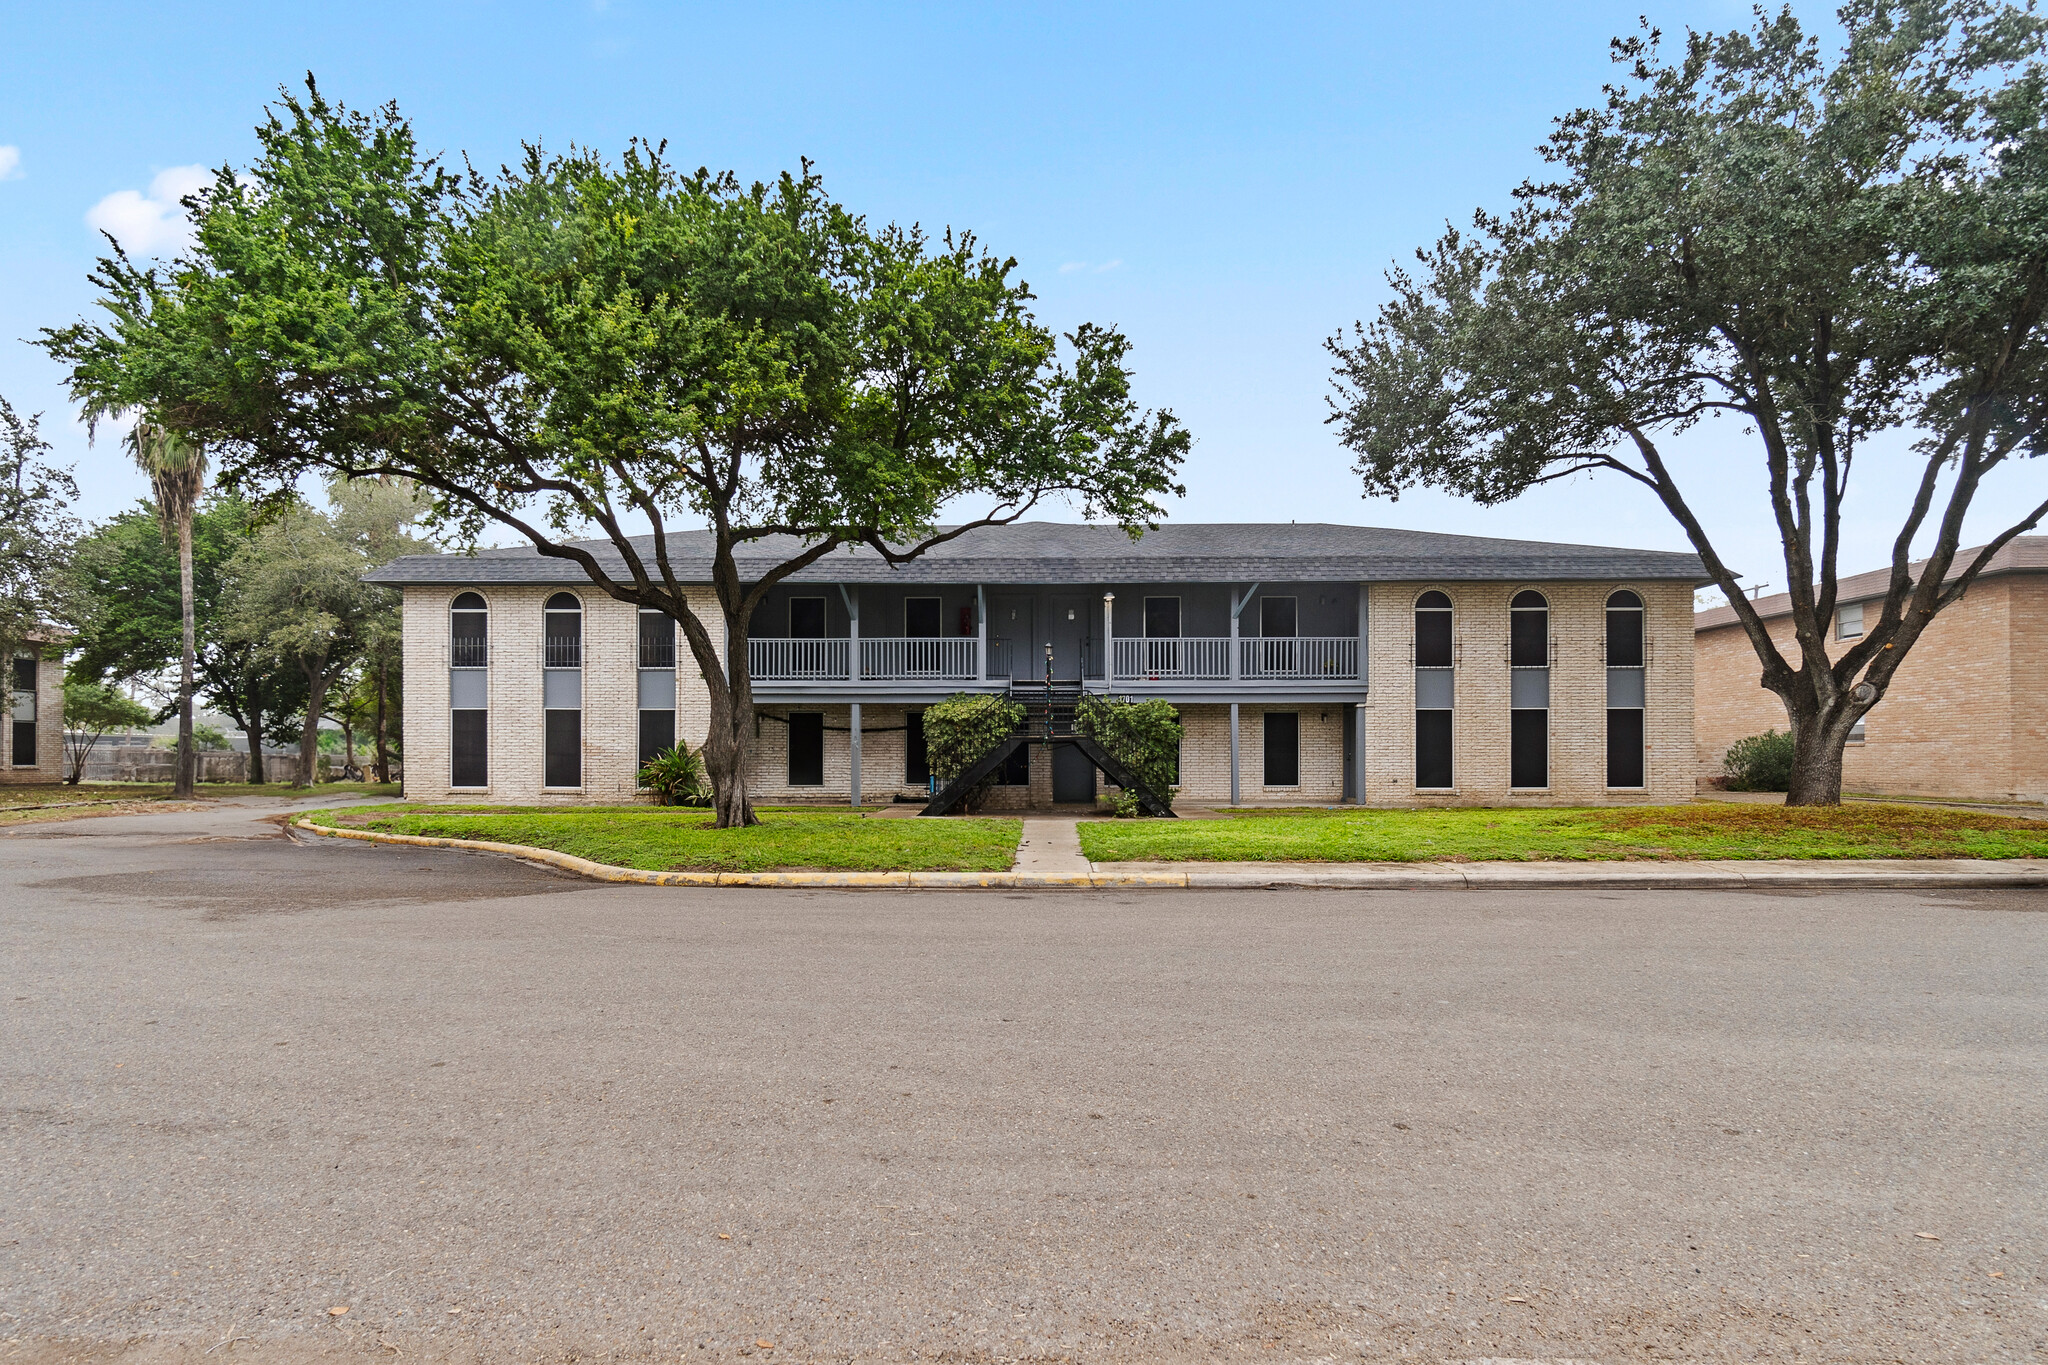
[[[885,821],[772,806],[754,829],[713,829],[709,810],[676,806],[356,806],[334,814],[362,829],[524,843],[647,872],[1008,872],[1022,833],[1020,821]]]

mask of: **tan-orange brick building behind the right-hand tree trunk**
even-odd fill
[[[1968,565],[1976,551],[1956,555]],[[1921,565],[1913,565],[1917,575]],[[1847,649],[1876,622],[1888,569],[1841,579],[1829,636]],[[1772,639],[1796,661],[1792,602],[1759,598]],[[1784,731],[1749,636],[1726,606],[1694,618],[1700,778],[1745,735]],[[1927,626],[1843,755],[1843,788],[1901,796],[2048,800],[2048,536],[2011,540],[1960,602]]]

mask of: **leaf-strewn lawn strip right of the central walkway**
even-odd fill
[[[1274,810],[1083,821],[1094,862],[1483,862],[1612,857],[2048,857],[2048,823],[1931,806]]]

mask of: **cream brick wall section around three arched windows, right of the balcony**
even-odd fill
[[[1415,788],[1415,598],[1450,596],[1456,645],[1452,792]],[[1507,604],[1534,587],[1550,602],[1550,786],[1509,790]],[[1608,596],[1628,587],[1645,608],[1645,782],[1608,788]],[[1366,706],[1366,798],[1372,804],[1544,806],[1669,802],[1694,792],[1692,587],[1688,583],[1374,583],[1372,700]]]

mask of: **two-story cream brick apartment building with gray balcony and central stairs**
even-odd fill
[[[760,551],[770,565],[791,546]],[[670,557],[717,620],[709,542],[670,536]],[[702,739],[707,692],[672,622],[578,579],[530,548],[371,575],[406,596],[410,796],[631,800],[645,753]],[[1130,540],[1026,522],[901,567],[834,553],[754,616],[754,790],[924,794],[922,708],[1051,667],[1174,702],[1184,800],[1677,800],[1700,579],[1692,555],[1325,524]],[[1012,761],[991,804],[1094,798],[1087,761],[1051,753]]]

